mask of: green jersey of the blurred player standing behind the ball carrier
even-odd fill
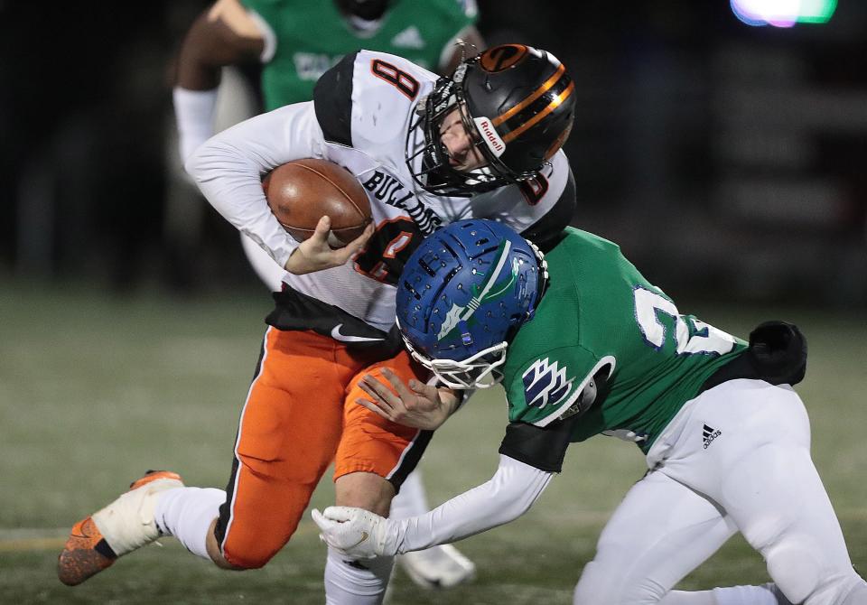
[[[312,99],[322,73],[362,48],[435,71],[446,45],[477,19],[475,2],[395,0],[368,35],[353,29],[331,0],[241,1],[266,25],[262,93],[268,111]]]

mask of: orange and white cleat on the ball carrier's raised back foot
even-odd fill
[[[80,584],[107,569],[117,557],[154,542],[161,535],[154,520],[154,496],[182,487],[176,473],[148,470],[120,498],[72,526],[70,539],[58,557],[60,581],[70,586]]]

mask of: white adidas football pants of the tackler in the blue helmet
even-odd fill
[[[697,396],[649,451],[651,470],[602,531],[574,603],[657,603],[738,531],[788,600],[844,603],[864,582],[809,448],[788,385],[738,379]]]

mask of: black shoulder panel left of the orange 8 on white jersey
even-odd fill
[[[352,76],[358,52],[350,52],[313,87],[313,108],[325,140],[352,146]]]

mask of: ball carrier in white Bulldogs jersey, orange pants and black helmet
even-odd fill
[[[521,44],[484,51],[448,78],[358,51],[322,76],[312,102],[250,118],[201,145],[186,164],[200,190],[286,270],[228,488],[145,475],[73,527],[61,581],[83,582],[159,535],[221,567],[261,567],[294,533],[331,462],[338,505],[387,516],[432,433],[347,402],[364,396],[362,376],[385,367],[404,382],[430,379],[393,329],[397,278],[425,236],[457,219],[501,221],[543,248],[563,230],[575,205],[561,150],[573,92],[560,61]],[[340,163],[368,191],[373,222],[347,247],[329,247],[327,217],[299,244],[268,209],[263,175],[307,157]],[[461,394],[442,396],[457,405]],[[330,549],[327,602],[381,602],[392,563]]]

